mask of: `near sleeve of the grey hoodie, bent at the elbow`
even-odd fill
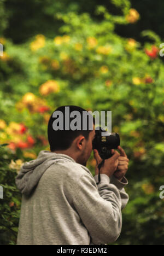
[[[94,245],[114,242],[122,228],[120,190],[103,175],[96,185],[89,173],[83,174],[74,194],[74,206],[89,231]]]

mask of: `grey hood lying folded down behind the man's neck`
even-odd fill
[[[56,154],[46,150],[40,151],[36,160],[25,162],[25,164],[22,165],[15,181],[17,188],[22,194],[29,196],[32,190],[37,187],[44,172],[60,159],[75,162],[73,158],[65,154]]]

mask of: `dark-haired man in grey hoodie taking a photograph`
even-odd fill
[[[63,113],[64,120],[65,107],[56,109]],[[81,114],[86,111],[76,106],[69,108],[70,112],[76,110]],[[36,160],[22,166],[16,178],[23,194],[17,245],[114,242],[121,232],[121,210],[128,201],[124,187],[129,160],[121,147],[120,154],[113,150],[112,158],[101,167],[101,182],[97,185],[98,164],[102,161],[97,150],[96,176],[86,168],[95,137],[94,126],[92,131],[56,131],[54,116],[51,115],[48,125],[51,152],[41,151]]]

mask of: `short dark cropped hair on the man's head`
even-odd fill
[[[76,137],[78,137],[79,135],[83,135],[86,140],[89,138],[89,133],[91,132],[91,130],[89,130],[89,117],[87,116],[87,120],[86,120],[86,130],[65,130],[65,107],[69,107],[69,113],[71,114],[72,111],[78,111],[81,114],[81,127],[83,127],[83,112],[88,112],[87,110],[85,110],[84,108],[80,108],[78,106],[61,106],[59,108],[57,108],[54,112],[56,111],[61,111],[63,113],[63,130],[54,130],[53,129],[53,123],[57,118],[53,118],[53,114],[52,113],[50,120],[49,120],[49,124],[48,124],[48,140],[49,140],[49,144],[50,144],[50,150],[51,152],[54,152],[55,150],[66,150],[69,147],[71,147],[72,142],[74,141],[74,139]],[[91,115],[90,113],[88,113],[89,115]],[[92,115],[91,115],[92,116]],[[71,123],[71,121],[73,120],[73,118],[69,119],[69,124]],[[92,116],[92,120],[93,120],[93,124],[95,124],[95,118]]]

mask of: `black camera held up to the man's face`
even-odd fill
[[[96,137],[92,142],[93,149],[98,150],[99,156],[101,156],[102,159],[111,158],[113,156],[111,150],[117,149],[118,146],[120,146],[119,133],[109,133],[103,130],[101,127],[97,127],[95,131]],[[102,132],[106,136],[102,136]]]

